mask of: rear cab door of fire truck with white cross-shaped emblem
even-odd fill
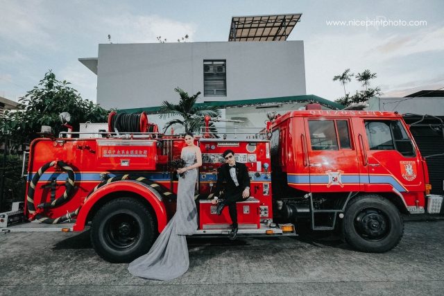
[[[359,191],[359,164],[350,119],[305,119],[311,192]]]

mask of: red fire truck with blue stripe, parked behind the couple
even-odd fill
[[[196,139],[203,155],[197,236],[230,231],[228,209],[218,216],[211,203],[226,149],[246,164],[251,180],[250,198],[237,203],[240,236],[296,235],[295,226],[309,225],[341,230],[357,250],[386,252],[402,238],[400,213],[441,210],[443,198],[429,195],[425,159],[400,114],[309,106],[268,118],[266,128],[246,137],[207,129]],[[105,260],[128,262],[148,252],[176,209],[170,162],[184,141],[157,132],[142,116],[142,132],[109,125],[94,137],[64,132],[31,143],[26,200],[0,214],[3,232],[89,228]],[[32,222],[14,223],[21,217]]]

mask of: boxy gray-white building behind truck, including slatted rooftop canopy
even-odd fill
[[[233,17],[228,42],[99,44],[97,58],[79,60],[96,73],[97,103],[106,109],[157,113],[163,101],[178,103],[176,87],[201,92],[197,103],[220,106],[224,118],[247,125],[263,125],[266,109],[309,101],[341,108],[306,96],[304,42],[287,41],[300,16]],[[149,119],[161,128],[165,122]]]

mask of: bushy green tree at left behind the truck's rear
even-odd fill
[[[83,100],[66,80],[59,81],[51,70],[39,84],[19,99],[21,108],[6,112],[0,120],[3,134],[15,140],[30,142],[37,137],[42,125],[49,125],[58,136],[62,127],[59,114],[71,114],[70,125],[78,130],[79,123],[105,122],[108,112],[91,101]]]

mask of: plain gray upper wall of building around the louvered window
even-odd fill
[[[203,60],[227,61],[227,96],[198,103],[306,94],[302,41],[99,44],[97,103],[152,107],[177,103],[175,87],[203,93]]]

